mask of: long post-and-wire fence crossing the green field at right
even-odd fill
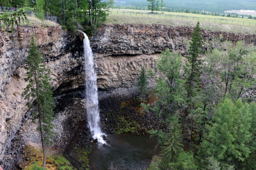
[[[252,22],[246,22],[246,21],[229,20],[229,19],[221,19],[221,18],[201,18],[201,17],[191,17],[191,16],[184,16],[184,15],[168,15],[168,14],[134,12],[134,11],[109,11],[109,15],[130,15],[130,16],[141,16],[141,17],[151,17],[151,18],[185,19],[185,20],[196,20],[196,21],[223,23],[223,24],[225,23],[225,24],[256,26],[256,20],[252,20]]]

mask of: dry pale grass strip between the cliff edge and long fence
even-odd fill
[[[117,19],[117,21],[115,21]],[[105,24],[143,24],[143,25],[166,25],[195,27],[196,20],[179,20],[170,18],[151,18],[141,16],[110,15]],[[208,31],[224,31],[232,33],[256,34],[255,26],[241,26],[235,24],[220,24],[200,21],[200,27]]]

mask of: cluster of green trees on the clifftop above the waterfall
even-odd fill
[[[60,25],[75,32],[83,29],[83,26],[97,25],[100,21],[105,21],[112,4],[113,0],[5,0],[1,6],[30,7],[40,19],[50,13],[57,16]]]

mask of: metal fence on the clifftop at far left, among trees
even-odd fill
[[[0,14],[17,12],[19,10],[20,10],[20,8],[0,6]],[[35,17],[40,18],[40,19],[49,20],[49,21],[53,21],[53,22],[57,23],[57,16],[53,16],[49,12],[29,11],[29,10],[27,10],[24,13],[26,13],[29,16],[35,16]]]

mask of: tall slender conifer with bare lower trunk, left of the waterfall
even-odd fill
[[[53,108],[55,107],[54,98],[52,97],[52,90],[50,86],[50,69],[45,68],[45,65],[42,64],[43,59],[39,53],[38,47],[34,37],[31,37],[30,49],[28,51],[28,57],[25,60],[26,73],[27,77],[25,81],[28,82],[27,87],[25,88],[25,98],[28,100],[36,101],[36,111],[39,119],[39,125],[37,130],[41,135],[41,142],[44,154],[43,166],[46,163],[45,156],[45,144],[53,135],[54,125],[51,123],[53,120]],[[33,107],[32,102],[27,103],[29,108]],[[36,112],[35,111],[35,112]]]

